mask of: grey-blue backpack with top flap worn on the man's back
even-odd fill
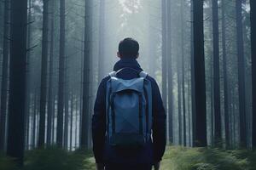
[[[108,143],[122,148],[142,147],[151,138],[151,82],[144,71],[131,80],[116,77],[118,72],[111,72],[107,82]]]

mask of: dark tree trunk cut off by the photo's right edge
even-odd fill
[[[256,2],[251,4],[251,47],[252,47],[252,80],[253,80],[253,148],[256,147]]]

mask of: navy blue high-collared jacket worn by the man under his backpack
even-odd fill
[[[136,59],[120,59],[113,67],[113,71],[119,71],[124,67],[130,67],[137,71],[143,71]],[[137,77],[135,71],[125,69],[117,75],[119,78],[132,79]],[[122,163],[140,164],[154,163],[161,160],[166,149],[166,111],[160,96],[160,90],[153,77],[148,76],[152,86],[153,109],[153,141],[142,150],[117,150],[111,147],[105,140],[106,135],[106,84],[110,77],[103,78],[96,94],[94,115],[92,117],[93,151],[96,163]]]

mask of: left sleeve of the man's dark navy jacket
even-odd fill
[[[96,94],[94,114],[91,121],[93,152],[96,163],[103,162],[103,149],[106,133],[106,81],[100,83]]]

